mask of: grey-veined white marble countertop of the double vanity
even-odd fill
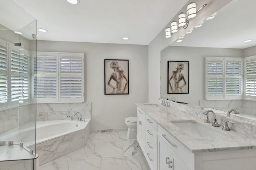
[[[242,150],[255,149],[256,139],[249,138],[234,131],[222,130],[222,126],[213,127],[212,124],[204,123],[203,119],[190,115],[184,111],[180,111],[173,107],[163,107],[157,105],[143,105],[143,103],[136,103],[140,109],[147,113],[154,119],[161,127],[167,130],[176,140],[183,144],[192,153],[196,152],[213,152],[222,150]],[[210,113],[209,113],[210,114]],[[182,129],[178,128],[170,121],[196,121],[199,124],[214,128],[224,136],[217,137],[195,137],[190,136]]]

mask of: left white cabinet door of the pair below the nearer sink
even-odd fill
[[[171,156],[170,147],[162,137],[158,136],[158,170],[172,170]]]

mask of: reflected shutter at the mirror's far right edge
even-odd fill
[[[256,56],[247,57],[245,61],[245,96],[246,99],[256,99]]]

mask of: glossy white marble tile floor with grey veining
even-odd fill
[[[43,164],[39,170],[150,170],[127,131],[91,133],[85,147]]]

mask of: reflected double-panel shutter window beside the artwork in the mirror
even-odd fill
[[[205,98],[242,99],[242,58],[206,57]]]

